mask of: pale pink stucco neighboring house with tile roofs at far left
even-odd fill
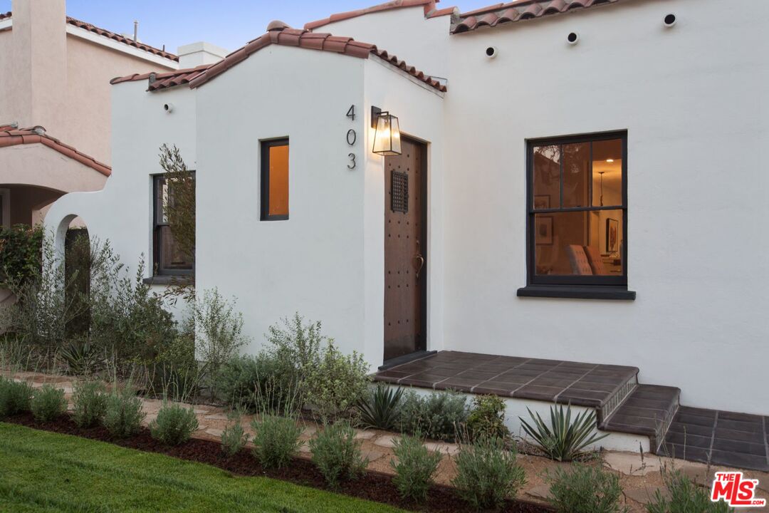
[[[178,58],[65,14],[64,0],[14,0],[0,14],[0,225],[32,225],[56,198],[110,175],[109,80]]]

